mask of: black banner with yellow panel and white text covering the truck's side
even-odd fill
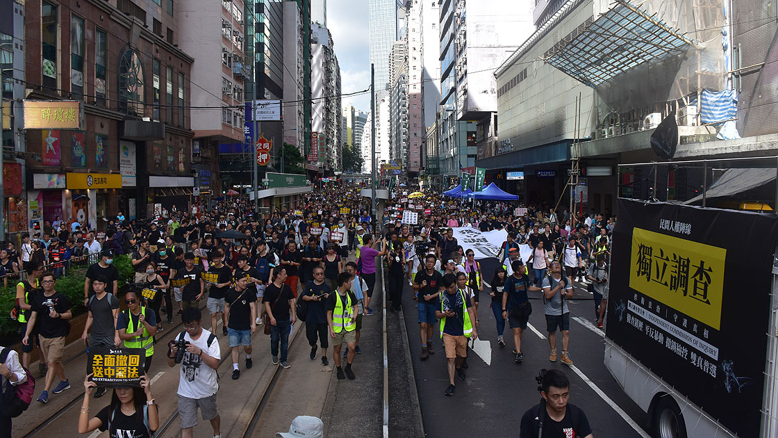
[[[758,436],[778,218],[619,199],[606,336]]]

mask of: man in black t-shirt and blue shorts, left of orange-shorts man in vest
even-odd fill
[[[438,297],[443,291],[443,275],[435,270],[436,257],[432,254],[424,260],[425,270],[416,274],[413,290],[416,291],[416,301],[419,302],[419,337],[422,340],[422,360],[433,350],[433,331],[436,322],[435,311],[438,308]]]

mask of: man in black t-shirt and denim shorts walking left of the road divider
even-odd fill
[[[234,286],[227,291],[225,313],[227,315],[227,334],[230,336],[230,348],[233,358],[233,380],[240,377],[238,355],[240,346],[246,351],[246,369],[251,368],[251,334],[257,330],[257,299],[254,292],[247,288],[248,277],[236,271]]]

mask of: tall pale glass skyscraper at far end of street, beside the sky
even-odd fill
[[[376,90],[387,90],[389,54],[397,40],[397,1],[368,0],[370,64],[375,66]]]

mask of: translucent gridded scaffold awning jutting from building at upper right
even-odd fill
[[[692,44],[655,15],[649,16],[637,6],[617,0],[598,19],[588,19],[554,44],[543,59],[594,88],[636,65],[678,55]]]

